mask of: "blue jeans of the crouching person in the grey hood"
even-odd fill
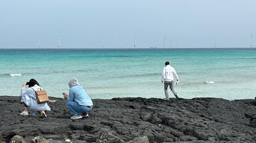
[[[87,106],[78,105],[75,101],[68,101],[67,106],[74,116],[79,115],[80,113],[90,112],[93,108],[93,106],[88,108]]]

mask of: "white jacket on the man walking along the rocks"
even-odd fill
[[[174,75],[176,79],[179,80],[179,77],[173,67],[170,65],[167,65],[166,67],[163,68],[163,73],[162,73],[162,81],[173,81],[174,80]]]

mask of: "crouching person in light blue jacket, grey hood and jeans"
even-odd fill
[[[69,95],[63,93],[63,97],[68,99],[67,106],[73,116],[70,119],[88,118],[88,112],[93,108],[93,102],[86,91],[80,86],[78,80],[73,77],[69,81]]]

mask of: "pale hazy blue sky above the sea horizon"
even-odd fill
[[[255,0],[0,1],[0,48],[256,47]],[[142,40],[143,39],[143,40]]]

